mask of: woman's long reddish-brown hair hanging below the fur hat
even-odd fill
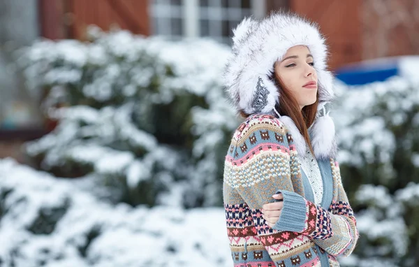
[[[311,146],[310,136],[309,136],[309,127],[313,124],[316,119],[317,106],[318,106],[318,90],[316,102],[312,103],[309,106],[304,106],[300,110],[300,105],[298,105],[297,99],[293,96],[289,89],[284,86],[284,82],[278,77],[277,73],[274,71],[270,76],[270,80],[274,82],[279,90],[279,103],[275,106],[278,113],[282,116],[288,116],[293,120],[295,126],[300,131],[302,137],[304,138],[312,154],[314,154],[313,147]],[[240,111],[240,115],[243,117],[249,117],[250,114],[244,113],[243,110]]]

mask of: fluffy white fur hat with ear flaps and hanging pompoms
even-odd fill
[[[314,68],[318,76],[318,118],[320,117],[325,103],[332,101],[334,93],[332,73],[327,70],[326,65],[328,48],[316,24],[293,13],[279,12],[259,21],[244,18],[233,32],[233,53],[223,78],[228,96],[237,110],[243,110],[247,114],[275,115],[274,108],[279,103],[280,96],[274,82],[270,80],[274,63],[283,59],[289,48],[305,45],[314,57]],[[323,120],[317,124],[317,118],[314,123],[317,125],[310,128],[316,129],[315,133],[310,131],[311,145],[316,157],[334,157],[335,127],[325,112],[322,117],[327,123]],[[281,119],[284,119],[281,121],[288,124],[288,129],[292,131],[297,151],[304,153],[304,138],[299,131],[292,130],[296,129],[295,125],[290,125],[293,124],[292,120],[288,120],[286,116],[281,116]],[[322,127],[318,127],[319,125]],[[325,127],[330,129],[323,129]],[[322,136],[328,136],[328,140],[323,140]]]

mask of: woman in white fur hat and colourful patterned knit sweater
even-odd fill
[[[325,39],[289,13],[235,29],[228,95],[247,117],[226,156],[223,199],[234,266],[339,266],[358,240],[335,161]]]

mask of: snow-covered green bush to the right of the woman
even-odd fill
[[[360,242],[346,266],[417,266],[419,82],[337,86],[339,164]]]

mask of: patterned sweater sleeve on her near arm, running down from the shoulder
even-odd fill
[[[251,119],[241,128],[233,138],[224,166],[223,191],[230,241],[246,236],[254,238],[247,241],[252,244],[251,240],[257,239],[270,259],[277,262],[291,253],[284,254],[284,244],[300,246],[300,249],[293,248],[295,252],[309,250],[309,237],[293,229],[272,229],[265,223],[261,213],[263,204],[274,202],[272,195],[277,189],[293,192],[290,150],[294,147],[288,144],[286,128],[276,119],[263,117]]]

